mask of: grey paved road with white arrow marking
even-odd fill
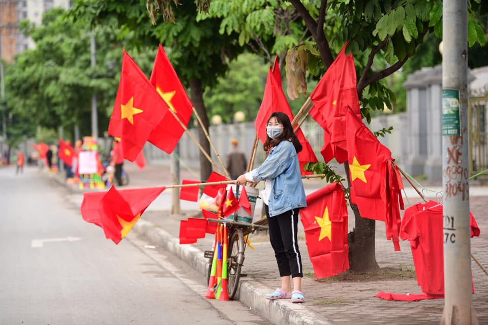
[[[68,197],[36,168],[0,169],[0,324],[268,323],[203,299],[203,276],[143,238],[104,239]]]

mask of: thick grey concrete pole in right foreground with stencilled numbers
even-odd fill
[[[444,311],[442,325],[478,324],[472,306],[468,153],[467,1],[443,2],[442,187]]]

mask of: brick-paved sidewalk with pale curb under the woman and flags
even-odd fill
[[[163,166],[147,166],[139,171],[131,163],[125,164],[131,183],[128,188],[169,185],[169,169]],[[198,171],[197,171],[198,172]],[[181,179],[198,179],[181,170]],[[306,192],[310,193],[325,185],[324,180],[305,181]],[[406,184],[407,185],[407,184]],[[430,188],[440,191],[441,187]],[[418,194],[410,187],[405,190],[410,206],[420,201]],[[488,187],[470,187],[471,212],[475,216],[480,237],[471,242],[471,251],[478,261],[488,267]],[[425,192],[435,199],[434,192]],[[79,197],[79,194],[78,194]],[[179,221],[189,216],[201,215],[198,205],[193,202],[180,201],[181,215],[169,215],[171,190],[165,190],[144,213],[134,230],[144,234],[155,245],[164,247],[188,262],[192,267],[205,273],[207,259],[203,251],[209,250],[213,238],[207,235],[196,244],[179,245]],[[260,216],[260,207],[256,206],[255,219]],[[354,217],[349,214],[349,230],[354,226]],[[398,294],[420,294],[420,287],[414,278],[360,281],[317,281],[304,242],[303,228],[299,229],[299,247],[302,254],[304,278],[302,291],[306,302],[292,304],[290,301],[268,301],[264,294],[280,286],[278,268],[267,234],[258,233],[251,237],[255,250],[246,248],[242,272],[248,274],[240,280],[238,299],[254,309],[261,316],[276,324],[432,324],[439,323],[444,308],[444,300],[424,300],[419,302],[385,301],[374,298],[379,291]],[[134,234],[133,234],[134,235]],[[130,238],[131,234],[129,235]],[[401,242],[401,251],[395,252],[391,241],[385,239],[385,226],[377,222],[376,226],[376,259],[380,267],[402,268],[413,270],[412,254],[408,242]],[[476,293],[473,295],[473,306],[476,309],[479,324],[488,324],[488,276],[472,261],[471,269]]]

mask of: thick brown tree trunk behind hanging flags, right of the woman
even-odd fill
[[[344,169],[347,175],[347,183],[351,190],[351,180],[349,177],[349,165],[344,163]],[[372,272],[377,270],[375,254],[375,220],[361,217],[357,205],[349,204],[354,212],[355,227],[348,234],[349,242],[349,268],[356,272]]]

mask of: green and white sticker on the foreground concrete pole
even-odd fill
[[[442,89],[442,135],[461,136],[459,90]]]

